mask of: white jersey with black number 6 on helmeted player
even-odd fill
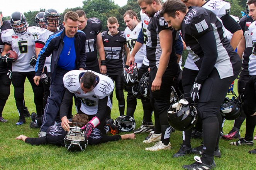
[[[29,32],[30,27],[24,35],[15,34],[13,29],[2,32],[1,39],[4,43],[12,46],[12,50],[17,52],[18,59],[12,64],[12,71],[30,72],[35,68],[29,64],[29,59],[36,56],[35,42],[33,35]]]

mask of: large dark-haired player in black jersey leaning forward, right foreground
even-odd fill
[[[203,154],[202,158],[195,156],[196,162],[183,168],[212,169],[222,124],[220,105],[241,71],[241,60],[224,36],[226,30],[214,12],[202,7],[188,9],[183,2],[168,0],[161,15],[169,27],[181,30],[199,69],[190,96],[198,103],[197,111],[203,123]]]

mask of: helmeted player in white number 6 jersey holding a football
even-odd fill
[[[2,56],[7,54],[8,50],[14,50],[18,54],[18,59],[12,64],[12,85],[14,86],[14,97],[19,111],[19,121],[16,125],[25,123],[25,116],[30,117],[29,113],[24,116],[24,83],[29,80],[34,92],[34,103],[36,104],[37,114],[42,113],[43,88],[33,83],[35,74],[33,62],[36,60],[35,43],[33,35],[27,28],[25,15],[20,12],[14,12],[10,16],[10,25],[12,29],[2,32],[1,38],[5,43]]]

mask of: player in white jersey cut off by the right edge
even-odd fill
[[[246,133],[244,138],[240,138],[236,142],[231,142],[231,145],[253,145],[253,133],[256,126],[256,60],[255,60],[255,48],[256,48],[256,0],[248,0],[249,17],[253,19],[249,26],[249,35],[253,42],[253,52],[249,56],[248,71],[249,81],[246,84],[244,90],[244,114],[246,115]],[[248,42],[249,43],[249,42]],[[256,154],[256,149],[249,151],[249,153]]]

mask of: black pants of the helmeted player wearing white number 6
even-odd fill
[[[44,91],[42,88],[42,83],[36,86],[34,83],[35,72],[12,72],[12,85],[14,86],[14,98],[16,102],[17,109],[20,114],[20,118],[24,118],[24,83],[25,79],[29,80],[33,92],[34,92],[34,103],[36,104],[37,114],[42,114],[43,112],[43,96]]]

